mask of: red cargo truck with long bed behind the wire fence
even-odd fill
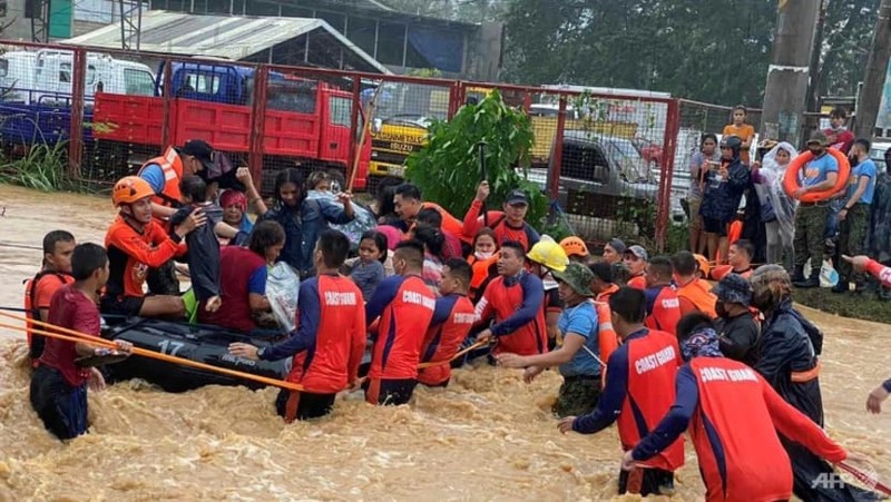
[[[225,63],[174,63],[174,99],[167,120],[169,144],[204,139],[234,161],[246,163],[252,136],[253,68]],[[96,93],[94,137],[106,155],[128,166],[141,165],[163,151],[164,73],[155,96]],[[323,81],[271,72],[263,120],[264,187],[286,167],[349,173],[352,140],[352,93]],[[370,141],[360,156],[354,189],[365,187]],[[114,161],[114,160],[112,160]]]

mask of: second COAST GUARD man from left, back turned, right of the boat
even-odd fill
[[[423,244],[399,243],[393,253],[396,275],[383,279],[365,305],[369,324],[380,318],[365,382],[371,404],[405,404],[418,384],[421,345],[437,305],[421,278],[423,264]]]

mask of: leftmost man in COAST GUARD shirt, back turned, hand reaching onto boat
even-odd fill
[[[282,390],[275,409],[285,422],[327,415],[337,393],[353,386],[365,351],[365,311],[362,292],[340,270],[350,253],[350,239],[324,230],[315,245],[315,277],[300,285],[300,321],[287,339],[257,350],[233,343],[229,353],[258,361],[294,356],[287,381],[303,392]]]

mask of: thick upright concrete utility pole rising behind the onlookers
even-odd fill
[[[764,89],[763,138],[801,145],[811,53],[822,2],[780,0],[776,37]]]

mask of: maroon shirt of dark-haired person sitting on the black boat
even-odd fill
[[[219,292],[225,307],[208,312],[200,306],[198,321],[241,332],[256,328],[247,284],[251,275],[263,266],[266,266],[266,258],[251,249],[237,246],[219,249]]]

